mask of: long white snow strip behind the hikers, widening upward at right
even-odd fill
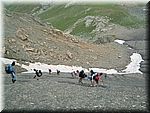
[[[19,64],[17,63],[16,60],[14,59],[7,59],[7,58],[0,58],[0,61],[4,64],[10,64],[13,61],[16,61],[16,65],[21,66],[22,68],[25,68],[27,70],[27,72],[24,73],[34,73],[33,69],[38,69],[41,70],[42,72],[48,72],[48,69],[51,69],[52,72],[56,72],[56,70],[60,70],[61,72],[73,72],[76,70],[84,70],[85,72],[89,72],[89,70],[93,70],[95,72],[102,72],[102,73],[106,73],[106,74],[129,74],[129,73],[140,73],[142,74],[141,71],[139,71],[140,69],[140,63],[142,61],[144,61],[141,57],[140,54],[138,53],[133,53],[131,56],[131,63],[129,65],[126,66],[126,69],[121,70],[121,71],[117,71],[115,69],[103,69],[103,68],[89,68],[89,69],[85,69],[81,66],[66,66],[66,65],[48,65],[48,64],[44,64],[44,63],[40,63],[40,62],[36,62],[36,63],[29,63],[29,66],[24,65],[24,64]]]

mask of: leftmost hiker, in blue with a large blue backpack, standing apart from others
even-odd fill
[[[12,82],[15,83],[16,81],[16,72],[15,72],[15,61],[12,62],[12,64],[8,64],[5,67],[5,71],[7,74],[11,74]]]

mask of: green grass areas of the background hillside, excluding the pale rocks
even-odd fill
[[[145,25],[145,21],[138,19],[130,14],[126,8],[117,4],[74,4],[66,7],[66,4],[51,5],[42,10],[39,4],[14,4],[7,5],[9,11],[35,14],[42,22],[51,23],[55,28],[67,30],[71,28],[78,20],[86,16],[107,16],[111,18],[110,22],[125,27],[138,28]],[[43,8],[42,8],[43,9]],[[40,12],[39,12],[40,10]],[[85,21],[81,21],[71,31],[71,34],[78,36],[92,36],[90,32],[95,26],[85,27]],[[93,37],[93,36],[92,36]]]

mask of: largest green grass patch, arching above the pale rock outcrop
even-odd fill
[[[88,8],[90,10],[85,11]],[[112,18],[111,22],[126,27],[138,27],[143,24],[143,21],[138,20],[135,16],[130,15],[127,10],[115,4],[72,5],[67,8],[65,8],[65,5],[57,5],[38,16],[43,21],[50,22],[57,28],[65,30],[78,19],[88,15],[108,16]]]

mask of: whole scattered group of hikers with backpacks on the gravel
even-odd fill
[[[12,64],[8,64],[8,65],[5,66],[5,71],[6,71],[7,74],[11,74],[13,83],[15,83],[15,81],[16,81],[16,72],[15,72],[14,66],[15,66],[15,61],[13,61]],[[33,70],[35,71],[35,76],[33,78],[42,76],[42,71],[41,70],[37,70],[37,69],[33,69]],[[52,73],[52,70],[49,69],[49,74],[51,74],[51,73]],[[57,75],[59,75],[60,71],[56,70],[56,73],[57,73]],[[83,84],[82,80],[84,78],[91,81],[91,86],[98,86],[99,81],[101,81],[101,83],[103,84],[103,80],[102,80],[103,73],[97,73],[97,72],[94,72],[93,70],[90,70],[90,75],[89,76],[84,72],[84,70],[73,71],[73,72],[71,72],[71,75],[72,75],[72,77],[79,77],[78,82],[81,83],[81,84]],[[39,80],[39,79],[37,78],[37,80]]]

